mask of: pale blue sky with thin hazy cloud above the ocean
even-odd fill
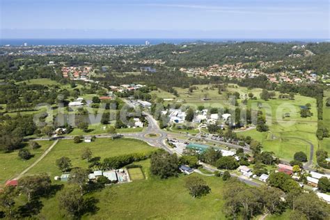
[[[0,38],[329,39],[329,0],[0,0]]]

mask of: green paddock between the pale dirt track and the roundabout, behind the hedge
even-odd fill
[[[106,157],[118,155],[127,155],[135,152],[152,152],[152,148],[147,143],[135,139],[96,139],[91,143],[73,143],[73,140],[61,140],[54,146],[52,152],[42,159],[40,163],[34,166],[29,174],[48,173],[51,176],[60,175],[61,171],[56,166],[56,159],[60,157],[69,157],[72,167],[87,168],[86,160],[81,159],[81,152],[84,148],[90,148],[93,157]]]

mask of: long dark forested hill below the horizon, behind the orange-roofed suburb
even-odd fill
[[[301,57],[290,58],[291,54]],[[239,42],[171,45],[160,44],[143,49],[138,58],[157,58],[166,61],[168,66],[201,67],[214,64],[253,63],[258,61],[299,62],[308,61],[308,65],[329,61],[330,43],[311,43],[302,46],[297,43]],[[327,62],[329,63],[329,62]],[[322,64],[323,65],[323,64]]]

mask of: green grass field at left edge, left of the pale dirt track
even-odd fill
[[[42,155],[42,153],[52,145],[53,141],[37,141],[40,148],[36,150],[30,150],[29,146],[27,146],[26,143],[26,149],[29,149],[31,154],[34,155],[29,160],[22,160],[18,157],[18,150],[14,150],[13,152],[9,153],[0,153],[0,162],[1,162],[1,168],[0,168],[0,185],[4,184],[6,180],[10,180],[11,178],[15,178],[16,175],[24,171],[24,168],[27,168],[33,162]]]

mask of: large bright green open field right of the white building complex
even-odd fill
[[[230,91],[239,91],[239,93],[247,92],[247,88],[229,88]],[[276,99],[264,101],[260,100],[260,89],[249,91],[258,97],[258,100],[249,100],[249,107],[257,107],[258,103],[262,104],[259,109],[263,111],[269,125],[269,132],[258,132],[252,129],[246,132],[239,132],[239,135],[251,136],[253,139],[260,141],[263,150],[272,151],[276,156],[282,159],[291,160],[297,151],[306,152],[309,155],[310,145],[306,142],[313,143],[317,148],[318,141],[315,136],[317,130],[317,111],[316,100],[311,97],[295,95],[294,100],[280,100],[276,93]],[[309,118],[301,118],[300,106],[310,103],[313,116]],[[290,113],[289,118],[282,118],[284,113]]]

